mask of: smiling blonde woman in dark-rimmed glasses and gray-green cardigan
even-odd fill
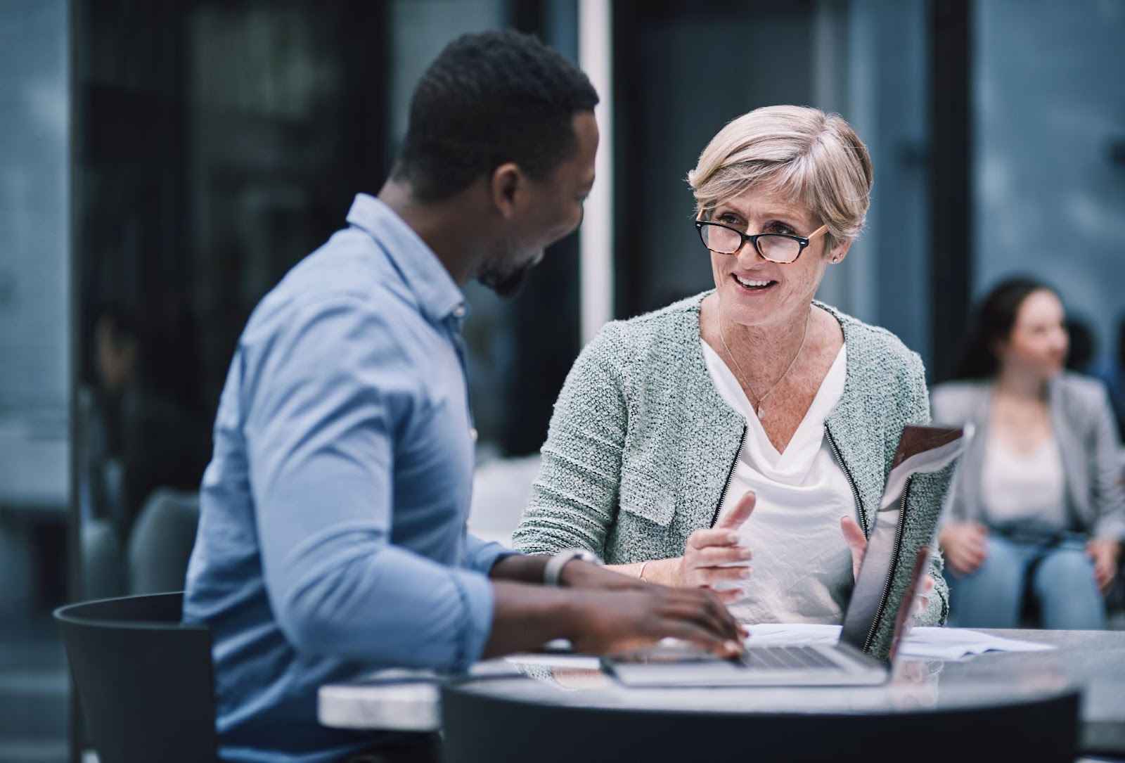
[[[929,420],[918,356],[813,302],[863,226],[867,150],[838,116],[760,108],[687,178],[716,288],[583,350],[515,545],[722,590],[748,622],[840,622],[902,427]],[[911,503],[936,513],[946,482]],[[925,623],[946,612],[933,557]]]

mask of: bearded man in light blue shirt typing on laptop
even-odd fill
[[[321,684],[376,667],[460,671],[557,637],[594,653],[665,636],[739,649],[709,592],[466,535],[458,287],[478,278],[511,293],[578,225],[596,102],[585,75],[531,37],[453,42],[415,91],[379,198],[357,197],[350,227],[251,316],[184,594],[184,619],[213,632],[225,758],[435,755],[431,739],[317,725]]]

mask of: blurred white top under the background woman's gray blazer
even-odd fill
[[[981,482],[993,527],[1018,523],[1028,529],[1066,529],[1065,477],[1053,434],[1032,454],[1018,454],[990,437]]]

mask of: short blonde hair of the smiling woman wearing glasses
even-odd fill
[[[828,226],[830,251],[863,230],[871,203],[871,155],[838,114],[766,106],[720,129],[687,173],[687,182],[696,217],[753,186],[781,192]]]

